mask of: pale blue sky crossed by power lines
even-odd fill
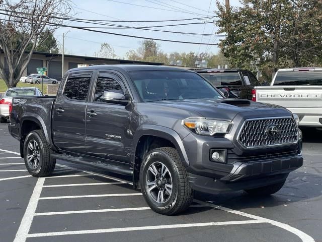
[[[82,19],[99,20],[174,20],[214,16],[216,0],[72,0],[73,17]],[[121,3],[122,2],[122,3]],[[220,0],[224,4],[224,0]],[[131,4],[131,5],[130,5]],[[147,7],[139,7],[141,5]],[[231,6],[238,6],[238,0],[230,0]],[[191,6],[191,7],[188,7]],[[209,12],[208,12],[209,10]],[[185,13],[181,13],[183,11]],[[207,20],[208,21],[208,20]],[[174,23],[201,22],[190,20],[185,22],[155,22],[155,23],[114,23],[129,25],[133,27],[166,25]],[[93,24],[64,22],[65,25],[93,26]],[[158,27],[156,29],[180,32],[213,34],[217,27],[213,23],[195,24],[185,26]],[[75,55],[93,56],[100,49],[101,43],[110,44],[117,56],[125,57],[125,53],[136,49],[143,39],[116,36],[104,33],[94,33],[85,30],[61,27],[55,32],[56,39],[62,42],[62,33],[68,32],[65,36],[65,53]],[[100,29],[103,31],[136,35],[143,37],[154,37],[160,39],[171,39],[188,42],[218,43],[218,37],[191,36],[186,34],[163,33],[138,29]],[[160,48],[166,52],[207,52],[217,53],[217,46],[184,44],[156,41]]]

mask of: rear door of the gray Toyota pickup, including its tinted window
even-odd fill
[[[71,73],[53,110],[53,141],[61,150],[85,152],[85,111],[92,72]]]

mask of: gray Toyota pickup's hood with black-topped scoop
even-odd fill
[[[232,120],[240,112],[266,113],[269,116],[290,115],[290,112],[280,106],[249,101],[247,99],[185,99],[153,102],[157,106],[168,106],[180,110],[195,112],[206,118],[222,118]],[[157,107],[156,107],[157,108]],[[162,109],[162,108],[161,108]],[[265,110],[265,112],[263,112]],[[257,112],[258,111],[258,112]]]

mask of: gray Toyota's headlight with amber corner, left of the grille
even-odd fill
[[[208,136],[227,134],[232,125],[231,122],[204,118],[188,118],[183,120],[183,124],[198,135]]]

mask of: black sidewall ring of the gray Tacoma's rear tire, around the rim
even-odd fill
[[[28,158],[27,158],[27,149],[28,149],[28,143],[30,140],[35,140],[38,143],[39,146],[39,152],[40,152],[40,159],[39,159],[39,164],[36,169],[33,169],[32,167],[29,166],[28,164]],[[24,160],[25,160],[25,165],[27,170],[31,175],[38,175],[43,167],[43,154],[44,154],[44,146],[43,143],[41,142],[40,136],[35,132],[32,131],[30,132],[26,139],[25,139],[25,144],[24,144]]]

